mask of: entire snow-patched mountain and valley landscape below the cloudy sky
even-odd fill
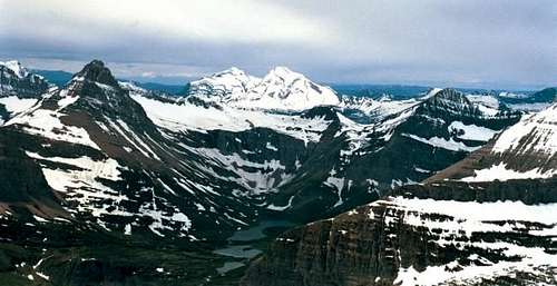
[[[184,86],[0,62],[2,285],[557,284],[557,89]]]

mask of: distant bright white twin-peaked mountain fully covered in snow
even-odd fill
[[[231,68],[190,82],[188,95],[241,109],[301,111],[339,103],[331,88],[285,67],[272,69],[263,79]]]

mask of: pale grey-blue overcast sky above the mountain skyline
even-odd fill
[[[0,59],[186,81],[286,66],[320,82],[557,86],[556,0],[0,0]]]

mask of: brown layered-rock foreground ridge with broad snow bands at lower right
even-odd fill
[[[526,116],[422,184],[280,235],[241,285],[555,285],[556,112]]]

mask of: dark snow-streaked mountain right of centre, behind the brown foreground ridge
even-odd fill
[[[383,106],[392,107],[390,102]],[[273,204],[292,203],[287,211],[296,217],[307,209],[332,207],[340,211],[355,207],[444,169],[520,117],[475,105],[452,89],[432,90],[422,100],[401,106],[381,108],[381,112],[373,112],[377,121],[368,125],[336,112],[338,127],[329,139],[331,145],[326,152],[320,150],[328,154],[326,158],[317,157],[309,165],[312,171],[283,185]],[[313,175],[310,179],[304,174]],[[320,200],[307,201],[320,196]]]

